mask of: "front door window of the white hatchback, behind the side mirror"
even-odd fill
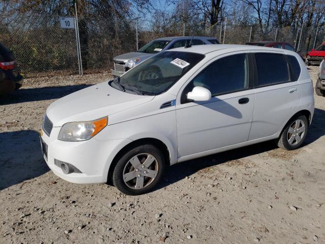
[[[186,102],[186,94],[195,86],[207,88],[213,97],[248,88],[247,55],[236,54],[223,57],[210,64],[186,86],[182,103]]]

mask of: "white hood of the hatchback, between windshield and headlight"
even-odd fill
[[[72,121],[89,121],[151,101],[154,96],[124,93],[107,81],[79,90],[53,102],[46,114],[53,127]]]

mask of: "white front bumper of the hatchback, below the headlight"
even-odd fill
[[[121,144],[131,142],[129,139],[100,141],[95,138],[80,142],[60,141],[57,140],[59,131],[59,127],[53,127],[50,136],[45,133],[41,136],[47,145],[47,157],[44,155],[44,159],[54,174],[73,183],[107,182],[108,170],[116,151]],[[55,165],[55,159],[75,166],[82,173],[64,174]]]

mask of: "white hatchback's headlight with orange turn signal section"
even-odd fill
[[[99,118],[92,121],[70,122],[64,124],[57,139],[61,141],[89,140],[107,126],[108,118]]]

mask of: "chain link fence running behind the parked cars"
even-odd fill
[[[58,19],[59,20],[59,19]],[[10,48],[25,77],[78,74],[81,54],[83,73],[107,72],[114,66],[113,57],[137,50],[151,40],[170,36],[212,36],[224,44],[253,41],[284,41],[306,53],[325,39],[324,27],[300,26],[269,29],[254,26],[219,24],[208,28],[176,23],[152,31],[137,20],[115,21],[79,17],[80,52],[75,29],[62,29],[59,22],[13,32],[1,31],[0,42]],[[137,43],[138,41],[138,43]]]

